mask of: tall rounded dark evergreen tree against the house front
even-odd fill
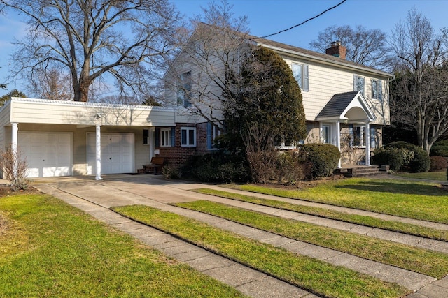
[[[240,74],[235,103],[225,111],[228,132],[241,138],[258,126],[267,133],[265,140],[275,144],[303,139],[302,93],[286,62],[275,52],[257,47],[243,62]],[[267,142],[264,147],[272,145]]]

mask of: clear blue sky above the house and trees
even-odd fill
[[[229,0],[235,16],[246,15],[248,27],[254,36],[266,36],[299,24],[342,0]],[[209,0],[172,0],[172,3],[188,19],[202,13]],[[269,39],[308,48],[318,33],[332,25],[363,25],[367,29],[380,29],[388,35],[395,24],[405,20],[408,11],[416,7],[428,17],[438,31],[448,27],[448,0],[347,0],[341,6],[328,11],[321,17],[296,27],[288,32],[271,36]],[[8,63],[14,47],[13,38],[24,37],[25,24],[20,17],[0,15],[0,82],[11,67]],[[0,90],[0,96],[12,89],[24,90],[20,83],[9,82],[8,90]]]

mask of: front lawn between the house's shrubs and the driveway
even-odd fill
[[[251,184],[229,187],[406,218],[448,223],[448,192],[424,182],[351,178],[328,181],[305,189],[288,190]]]

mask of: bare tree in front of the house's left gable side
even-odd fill
[[[248,47],[246,17],[234,17],[228,1],[211,2],[191,20],[188,43],[172,63],[165,84],[174,105],[223,124],[226,105],[235,102],[239,63]],[[193,33],[192,33],[193,31]]]

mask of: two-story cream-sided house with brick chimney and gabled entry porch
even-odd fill
[[[216,34],[216,31],[212,32],[210,35]],[[221,89],[217,85],[225,75],[222,64],[235,63],[233,67],[238,68],[239,58],[235,59],[235,55],[240,54],[244,46],[239,41],[233,52],[221,50],[220,54],[227,55],[221,59],[203,49],[221,46],[209,45],[214,42],[214,36],[205,35],[210,39],[205,43],[198,41],[198,36],[203,38],[204,34],[195,36],[193,33],[167,72],[166,100],[181,114],[190,114],[191,120],[195,121],[194,146],[204,152],[211,149],[211,140],[218,135],[217,128],[221,125],[218,124],[222,120],[219,119],[222,117],[219,108]],[[347,61],[346,48],[339,42],[331,43],[326,53],[318,53],[255,36],[244,38],[251,45],[276,52],[290,66],[302,91],[307,120],[307,137],[300,142],[335,145],[342,153],[339,166],[370,165],[370,152],[381,146],[382,128],[390,124],[388,86],[393,75]],[[212,96],[207,97],[207,94]],[[187,124],[178,126],[183,125]],[[191,129],[190,137],[193,137]],[[204,140],[202,144],[201,140]],[[290,149],[294,145],[282,144],[279,148]],[[166,151],[164,154],[169,155]]]

